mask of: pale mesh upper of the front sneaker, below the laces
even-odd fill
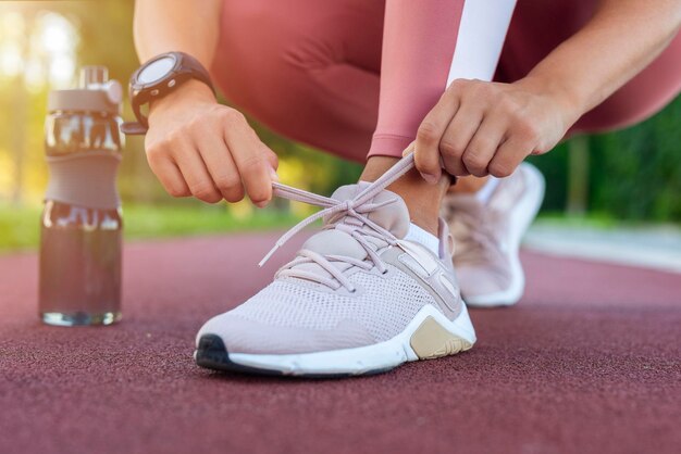
[[[355,293],[281,278],[246,303],[211,319],[201,333],[220,335],[233,353],[306,353],[348,349],[399,333],[431,294],[388,265],[388,273],[359,272]]]

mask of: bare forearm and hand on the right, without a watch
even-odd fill
[[[458,177],[510,175],[528,155],[552,150],[584,113],[659,55],[680,27],[678,0],[603,0],[594,17],[523,79],[455,80],[419,128],[417,167],[431,182],[438,181],[441,157]],[[460,184],[463,190],[481,186]]]

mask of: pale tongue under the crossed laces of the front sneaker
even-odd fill
[[[332,194],[332,198],[336,200],[355,199],[370,184],[367,181],[360,181],[357,185],[342,186]],[[376,194],[373,199],[369,200],[367,203],[381,203],[387,200],[395,201],[393,203],[387,203],[380,209],[376,209],[366,216],[371,222],[388,230],[395,237],[403,239],[409,230],[410,222],[409,211],[407,210],[405,201],[396,193],[384,190]],[[330,228],[338,224],[357,225],[356,223],[356,218],[347,216],[344,213],[331,217],[324,217],[324,226],[326,226],[327,228],[310,237],[302,244],[302,249],[308,249],[322,255],[342,255],[357,260],[364,260],[368,255],[367,251],[359,242],[357,242],[355,238],[340,229]],[[367,231],[372,230],[371,227],[368,227],[366,225],[362,226],[361,229]],[[372,243],[376,250],[387,245],[385,241],[382,241],[377,238],[369,236],[364,238],[368,242]],[[336,266],[342,270],[349,267],[349,265],[347,264],[339,263],[337,263]],[[326,273],[319,265],[313,263],[297,265],[295,268],[305,269],[312,273],[321,273],[326,277],[331,277],[329,273]]]

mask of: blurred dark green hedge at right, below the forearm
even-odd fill
[[[594,135],[589,207],[619,219],[681,220],[681,98],[652,118],[624,130]],[[568,147],[532,156],[546,176],[543,209],[565,209]]]

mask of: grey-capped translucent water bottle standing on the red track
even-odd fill
[[[124,139],[122,89],[102,66],[49,93],[49,182],[41,220],[39,313],[59,326],[121,319],[123,218],[116,173]]]

